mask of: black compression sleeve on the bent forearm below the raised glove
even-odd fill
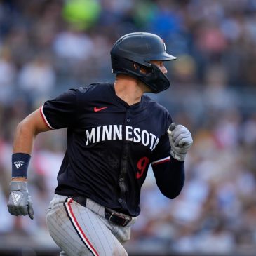
[[[184,161],[177,161],[170,156],[170,161],[156,163],[152,168],[161,193],[170,199],[178,196],[184,186]]]

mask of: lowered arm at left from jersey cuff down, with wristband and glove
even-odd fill
[[[51,130],[43,120],[40,109],[23,119],[15,130],[12,156],[12,179],[8,210],[12,215],[27,215],[34,218],[32,201],[27,190],[27,168],[34,139],[41,132]]]

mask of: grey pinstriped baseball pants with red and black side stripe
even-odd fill
[[[61,248],[60,256],[127,256],[123,243],[130,239],[130,226],[116,225],[104,217],[104,207],[87,199],[86,207],[67,196],[55,195],[46,222],[50,236]]]

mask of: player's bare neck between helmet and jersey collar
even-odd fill
[[[130,106],[140,102],[143,93],[146,92],[145,86],[140,81],[126,75],[116,76],[114,89],[116,95]]]

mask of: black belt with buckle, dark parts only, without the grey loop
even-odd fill
[[[84,198],[83,196],[72,196],[74,201],[81,204],[81,206],[86,207],[86,200],[87,198]],[[113,222],[114,224],[117,224],[119,226],[126,227],[133,218],[129,215],[125,215],[123,213],[118,213],[110,208],[102,206],[104,210],[104,217],[105,219],[109,220],[110,222]]]

